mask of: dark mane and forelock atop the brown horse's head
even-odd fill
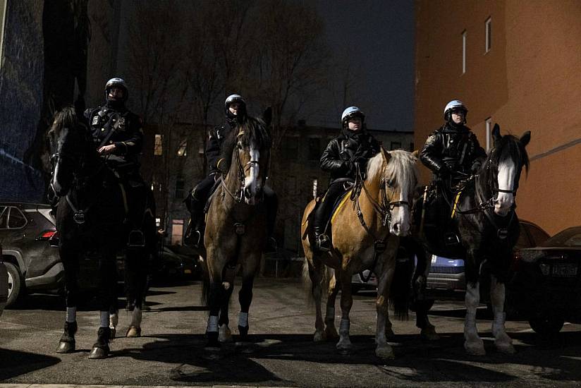
[[[243,133],[243,135],[238,136],[238,133]],[[236,147],[238,140],[245,145],[255,143],[255,145],[261,150],[264,150],[264,148],[270,149],[272,145],[272,140],[267,131],[267,124],[258,117],[247,116],[242,122],[238,123],[236,128],[234,128],[234,130],[228,134],[226,139],[224,139],[221,158],[224,159],[225,166],[230,166],[232,163],[233,150],[234,147]]]

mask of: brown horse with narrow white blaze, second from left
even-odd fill
[[[242,287],[238,294],[240,342],[248,338],[248,310],[252,302],[252,284],[260,266],[267,238],[266,206],[262,190],[267,178],[271,138],[267,132],[270,109],[264,120],[247,117],[224,141],[223,171],[207,213],[204,234],[207,282],[204,299],[209,307],[207,348],[219,348],[231,341],[228,327],[228,303],[234,278],[242,268]]]

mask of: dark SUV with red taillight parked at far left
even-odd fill
[[[58,292],[64,269],[59,248],[51,246],[56,233],[49,205],[0,202],[0,245],[8,272],[8,301],[27,292]]]

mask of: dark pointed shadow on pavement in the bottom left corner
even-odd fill
[[[56,357],[0,348],[0,381],[60,363]]]

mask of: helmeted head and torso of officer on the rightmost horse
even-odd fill
[[[422,163],[436,179],[448,183],[446,188],[454,188],[475,174],[486,157],[476,135],[465,125],[467,113],[460,100],[448,102],[444,108],[446,123],[429,135],[420,152]]]

